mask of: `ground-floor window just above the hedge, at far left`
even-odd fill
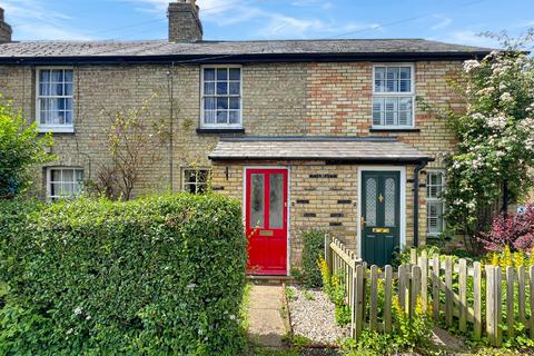
[[[72,198],[83,189],[83,169],[79,168],[49,168],[48,198]]]

